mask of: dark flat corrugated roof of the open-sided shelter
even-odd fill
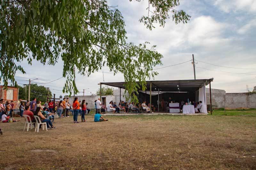
[[[162,81],[146,81],[147,90],[150,90],[150,83],[152,83],[152,91],[166,91],[166,92],[194,92],[200,87],[208,85],[211,79],[198,79],[198,80],[162,80]],[[139,83],[139,82],[138,82]],[[125,82],[101,82],[100,84],[118,87],[125,89]],[[179,89],[178,89],[179,88]],[[138,90],[142,90],[141,88]]]

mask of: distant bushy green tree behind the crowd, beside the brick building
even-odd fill
[[[25,88],[19,87],[19,99],[25,100],[27,98],[28,100],[28,91],[27,91],[27,97],[26,97],[26,91]],[[28,87],[27,87],[28,90]],[[31,84],[30,85],[30,101],[32,101],[33,97],[36,97],[37,101],[41,101],[42,103],[46,102],[46,98],[48,95],[48,89],[44,86],[38,86],[37,84]],[[49,90],[49,98],[52,96],[51,90]]]

